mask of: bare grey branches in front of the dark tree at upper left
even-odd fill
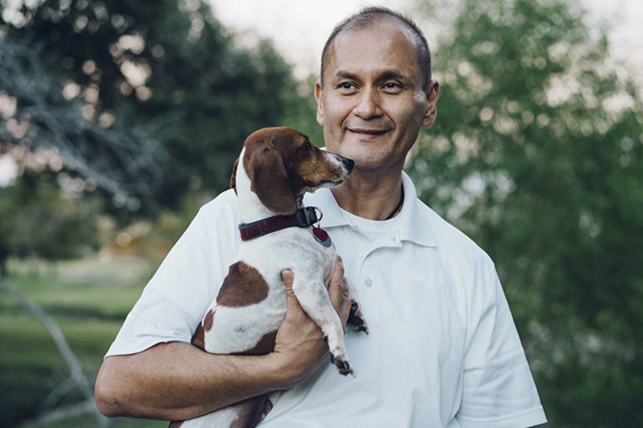
[[[91,179],[114,199],[140,206],[140,198],[152,199],[163,179],[168,156],[154,134],[163,121],[133,125],[129,129],[103,127],[82,115],[86,102],[66,100],[62,86],[42,64],[39,49],[12,40],[0,40],[0,92],[14,96],[14,120],[27,129],[16,135],[0,118],[0,141],[32,148],[55,147],[69,170]],[[166,122],[167,123],[167,122]]]

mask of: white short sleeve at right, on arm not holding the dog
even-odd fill
[[[495,271],[472,310],[464,357],[462,428],[524,428],[547,422]]]

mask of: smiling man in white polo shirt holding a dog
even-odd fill
[[[96,384],[107,415],[184,419],[273,395],[265,427],[493,427],[546,422],[493,262],[415,197],[402,172],[439,84],[413,22],[369,8],[329,37],[316,83],[332,152],[356,166],[307,195],[343,258],[329,293],[347,318],[341,277],[358,287],[370,335],[347,334],[357,378],[327,361],[321,332],[289,293],[268,355],[210,355],[189,344],[235,253],[230,191],[204,206],[146,287]],[[216,221],[215,221],[216,220]],[[291,274],[284,272],[287,287]]]

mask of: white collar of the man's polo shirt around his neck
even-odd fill
[[[402,172],[402,186],[404,188],[404,204],[397,215],[397,233],[400,240],[414,242],[425,247],[436,247],[437,241],[431,232],[430,218],[426,215],[428,210],[417,199],[415,186],[406,172]],[[305,206],[317,206],[321,209],[323,217],[320,226],[323,228],[350,224],[329,188],[318,189],[315,193],[306,193],[303,203]]]

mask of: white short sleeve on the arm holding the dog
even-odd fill
[[[107,356],[189,343],[235,256],[236,230],[233,192],[203,206],[147,283]]]

